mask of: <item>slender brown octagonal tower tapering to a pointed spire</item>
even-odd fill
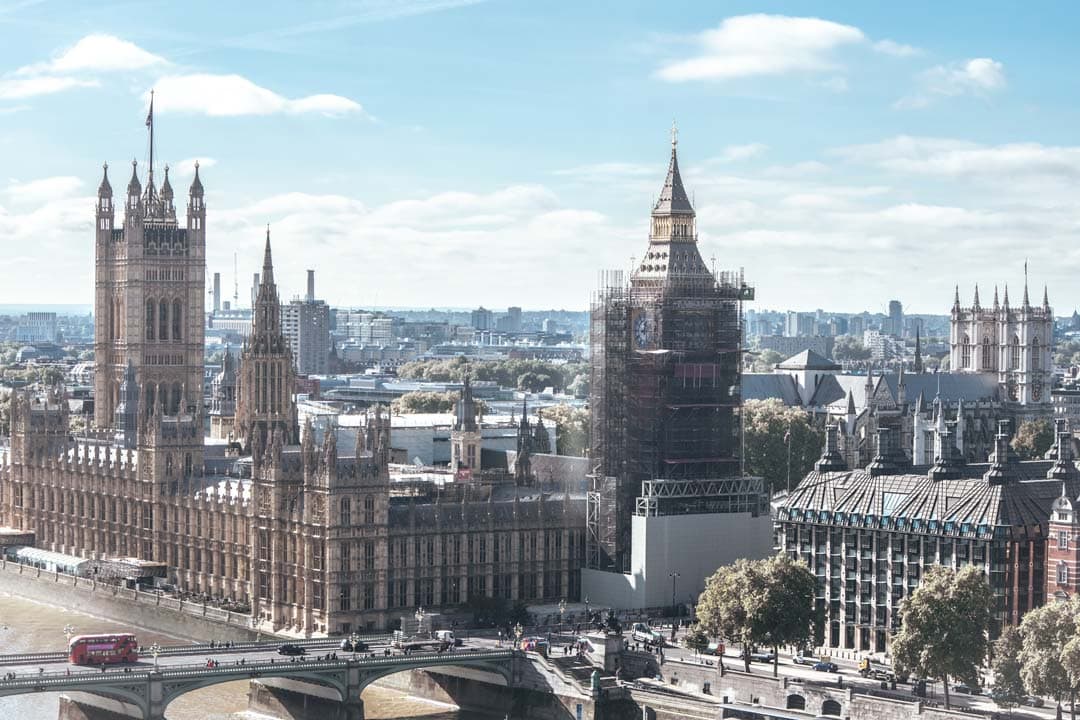
[[[281,331],[281,300],[273,282],[270,256],[270,228],[262,258],[262,276],[255,308],[252,334],[244,341],[237,379],[237,421],[234,435],[245,452],[252,444],[269,445],[269,434],[280,430],[285,445],[299,437],[296,416],[296,369],[293,353]]]

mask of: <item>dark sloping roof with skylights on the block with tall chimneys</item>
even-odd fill
[[[778,510],[781,520],[960,536],[1045,536],[1050,506],[1062,481],[1045,479],[1051,463],[1011,463],[1014,479],[990,485],[986,464],[963,477],[933,480],[924,473],[879,475],[865,470],[811,472]],[[1080,474],[1066,481],[1080,493]]]

